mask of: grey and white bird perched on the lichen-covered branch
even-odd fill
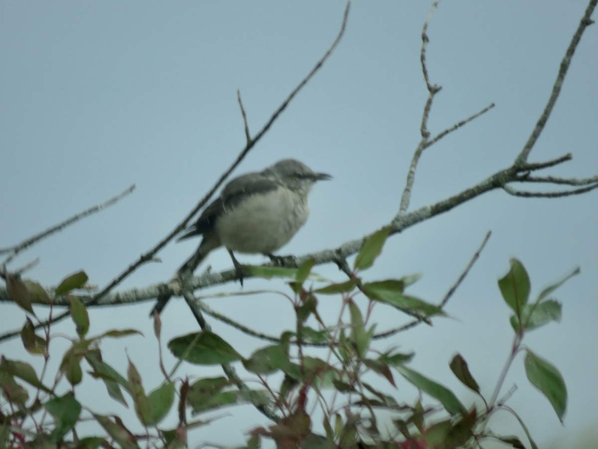
[[[313,184],[331,178],[294,159],[283,159],[261,172],[234,178],[178,239],[203,236],[196,253],[179,268],[178,274],[193,271],[210,251],[224,246],[243,283],[243,271],[233,251],[273,257],[272,253],[306,222],[307,196]],[[151,314],[160,313],[167,301],[158,299]]]

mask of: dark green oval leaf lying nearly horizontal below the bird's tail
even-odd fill
[[[221,365],[243,358],[230,344],[209,330],[173,338],[168,348],[175,357],[196,365]]]

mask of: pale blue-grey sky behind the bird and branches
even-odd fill
[[[443,86],[429,120],[432,134],[492,102],[496,107],[426,150],[411,209],[460,192],[511,165],[547,102],[586,3],[447,0],[440,4],[428,32],[430,77]],[[237,89],[255,133],[327,50],[340,28],[344,7],[343,2],[320,1],[2,2],[0,247],[16,244],[136,184],[133,195],[41,242],[9,268],[39,257],[27,275],[42,284],[55,285],[84,269],[90,283],[105,286],[172,230],[242,149],[245,135]],[[241,174],[294,157],[334,176],[334,181],[315,186],[310,219],[282,254],[335,248],[373,232],[398,210],[427,96],[419,52],[428,9],[428,2],[354,2],[346,35],[335,53],[237,169]],[[572,153],[573,160],[542,174],[584,178],[598,173],[596,80],[594,25],[582,38],[562,95],[530,155],[530,162],[566,153]],[[508,270],[509,258],[517,257],[526,266],[534,297],[581,266],[581,275],[554,295],[563,302],[562,322],[535,330],[526,339],[565,378],[569,390],[565,425],[527,382],[521,356],[509,372],[504,392],[517,384],[508,404],[520,413],[542,448],[563,447],[565,441],[570,444],[579,433],[589,432],[598,423],[597,195],[523,199],[495,191],[393,235],[366,277],[422,273],[410,292],[438,302],[487,231],[493,232],[477,265],[447,305],[451,318],[438,318],[432,327],[420,326],[379,347],[400,345],[416,351],[413,369],[446,384],[471,404],[474,398],[451,374],[448,362],[456,351],[463,354],[483,392],[491,395],[512,339],[509,310],[496,285]],[[196,244],[191,240],[169,245],[158,254],[161,263],[143,266],[119,290],[169,280]],[[214,271],[231,266],[224,250],[210,254],[208,264]],[[335,266],[316,271],[344,279]],[[244,288],[284,286],[246,280]],[[231,283],[210,291],[239,289]],[[163,341],[197,329],[184,302],[171,302],[163,314]],[[294,326],[291,307],[276,295],[209,304],[273,335]],[[334,320],[338,298],[321,304]],[[1,329],[20,328],[25,320],[22,311],[0,306]],[[102,350],[123,374],[126,350],[140,369],[146,390],[161,381],[147,317],[151,307],[146,302],[90,311],[93,334],[123,327],[144,332],[145,338],[106,341]],[[398,312],[381,307],[378,311],[378,330],[404,320]],[[245,356],[265,344],[220,323],[213,325]],[[74,335],[74,327],[64,321],[54,332]],[[64,339],[55,341],[54,370],[67,347]],[[23,357],[17,340],[3,342],[0,351],[7,357]],[[39,360],[27,360],[41,366]],[[172,366],[172,357],[166,363]],[[216,375],[218,370],[185,366],[179,374],[185,373]],[[133,414],[132,408],[98,399],[106,395],[96,381],[88,385],[93,388],[79,387],[77,395],[97,412]],[[404,383],[393,394],[401,401],[413,401],[416,395]],[[430,398],[426,401],[432,403]],[[220,412],[215,423],[191,434],[190,442],[240,444],[249,429],[267,424],[249,406],[226,413]],[[504,412],[493,418],[490,427],[522,435]]]

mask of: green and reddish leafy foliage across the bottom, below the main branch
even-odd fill
[[[52,387],[48,387],[28,363],[1,357],[0,388],[11,407],[0,410],[3,418],[0,441],[11,447],[26,441],[30,447],[41,448],[60,445],[99,448],[114,444],[123,448],[183,448],[187,447],[188,430],[210,423],[205,419],[191,421],[190,417],[220,411],[227,406],[251,404],[276,412],[279,419],[270,426],[251,430],[247,448],[259,448],[263,440],[272,440],[277,447],[458,448],[472,447],[474,441],[488,437],[513,448],[537,448],[521,418],[505,406],[504,400],[497,400],[504,377],[499,378],[492,398],[486,398],[468,363],[463,356],[455,354],[449,368],[483,402],[483,406],[466,406],[446,386],[409,366],[414,353],[399,352],[395,348],[380,353],[373,349],[373,342],[380,338],[376,335],[376,323],[371,322],[374,307],[385,308],[391,314],[405,313],[428,323],[431,318],[446,315],[440,305],[405,293],[420,275],[368,281],[362,278],[362,270],[370,268],[382,252],[388,232],[388,229],[382,229],[365,239],[354,263],[352,277],[338,283],[328,281],[325,286],[306,286],[322,279],[312,274],[313,260],[290,270],[249,268],[254,275],[289,279],[291,294],[288,297],[292,298],[295,311],[295,328],[282,332],[279,342],[258,348],[246,357],[221,336],[208,330],[177,336],[167,347],[178,362],[172,373],[166,374],[160,361],[164,381],[149,393],[132,359],[129,359],[124,377],[103,361],[100,351],[102,339],[128,338],[139,332],[112,329],[101,335],[88,336],[89,313],[84,304],[70,294],[84,286],[87,276],[80,272],[65,278],[54,295],[68,298],[77,336],[71,338],[71,345],[62,355],[57,380]],[[523,347],[522,341],[527,331],[560,320],[562,307],[551,295],[577,273],[575,271],[544,289],[535,302],[529,301],[529,276],[518,260],[511,260],[509,272],[498,281],[502,297],[514,313],[509,318],[514,342],[505,366],[508,368],[520,350],[524,350],[524,367],[530,383],[546,396],[560,420],[566,412],[565,381],[555,366],[530,348]],[[31,304],[45,301],[41,293],[45,290],[18,277],[12,277],[10,283],[10,291],[19,297],[17,304],[34,317]],[[321,295],[341,299],[342,313],[332,325],[325,323],[319,315],[318,298]],[[364,299],[365,308],[359,305]],[[52,302],[48,296],[44,304]],[[20,332],[23,347],[26,353],[41,355],[47,360],[51,333],[44,329],[38,335],[30,316],[26,316]],[[159,318],[154,327],[159,344]],[[319,347],[321,354],[316,355],[313,351],[308,354],[305,351],[308,345]],[[239,387],[239,380],[227,377],[192,380],[172,377],[184,362],[194,365],[240,362],[239,367],[242,365],[261,387]],[[269,377],[274,374],[279,376]],[[108,396],[118,404],[127,407],[132,404],[139,425],[147,429],[147,435],[133,432],[118,416],[97,414],[93,412],[93,406],[81,404],[77,391],[86,375],[102,383]],[[57,393],[64,391],[57,388],[61,381],[69,386],[67,393]],[[410,383],[422,394],[413,404],[399,399],[402,381]],[[28,389],[34,390],[35,395],[30,395]],[[310,416],[315,403],[324,410],[320,433],[313,431],[315,423]],[[161,427],[160,423],[173,409],[178,411],[178,425]],[[438,409],[443,409],[443,414],[436,412],[432,417],[432,412]],[[489,429],[490,418],[500,409],[511,412],[520,422],[527,435],[526,442],[512,435],[497,435]],[[378,424],[379,411],[391,414],[390,428],[386,423],[385,427]],[[34,416],[36,420],[31,419],[26,427],[28,418]],[[43,417],[41,421],[40,417]],[[95,420],[103,435],[78,435],[77,439],[75,430],[84,419]]]

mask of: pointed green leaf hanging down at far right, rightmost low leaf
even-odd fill
[[[559,420],[563,422],[567,409],[567,387],[559,370],[529,349],[524,366],[529,381],[547,397]]]

